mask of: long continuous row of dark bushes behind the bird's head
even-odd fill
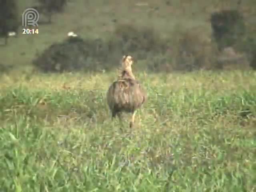
[[[123,54],[132,54],[140,60],[135,68],[154,72],[214,70],[226,65],[206,28],[178,28],[170,36],[169,40],[162,39],[151,28],[122,24],[107,40],[74,37],[53,44],[33,63],[44,72],[99,71],[116,68]],[[228,57],[228,62],[239,63],[238,56]]]

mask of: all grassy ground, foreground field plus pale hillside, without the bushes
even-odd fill
[[[209,38],[210,13],[237,6],[138,3],[70,1],[39,34],[20,33],[0,47],[0,64],[14,66],[0,73],[0,192],[256,192],[255,71],[154,73],[136,70],[150,59],[137,60],[134,74],[148,100],[132,130],[124,114],[121,130],[106,104],[115,70],[43,74],[32,67],[69,31],[108,38],[117,24],[152,26],[175,47],[184,30]],[[253,3],[242,1],[247,25],[255,21]]]

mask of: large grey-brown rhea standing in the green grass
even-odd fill
[[[120,118],[122,112],[131,113],[130,127],[133,126],[136,110],[146,100],[145,90],[132,73],[133,62],[132,56],[123,56],[118,80],[110,85],[107,92],[107,102],[112,112],[112,118],[116,115]]]

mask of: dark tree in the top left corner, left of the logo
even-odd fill
[[[19,27],[16,0],[0,0],[0,36],[6,38],[9,31],[17,32]]]

